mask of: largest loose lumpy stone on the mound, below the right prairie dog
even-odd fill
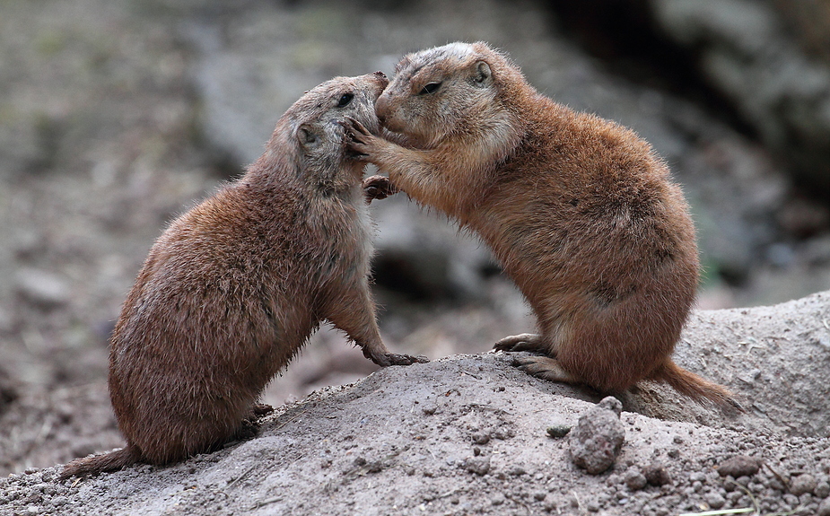
[[[625,428],[620,422],[622,410],[622,403],[609,396],[580,415],[568,437],[576,466],[598,475],[614,465],[625,441]]]

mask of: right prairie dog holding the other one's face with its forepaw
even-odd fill
[[[352,123],[352,148],[395,187],[478,233],[519,286],[539,334],[495,347],[548,380],[603,391],[665,381],[737,406],[670,354],[695,300],[688,206],[631,130],[537,92],[485,43],[404,57],[376,105],[404,146]]]

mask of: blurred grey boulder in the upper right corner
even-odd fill
[[[651,0],[660,30],[690,49],[706,81],[738,109],[802,188],[830,198],[830,67],[799,34],[830,23],[819,2]],[[803,4],[799,14],[792,8]],[[808,4],[815,16],[805,15]],[[789,19],[782,14],[794,14]],[[788,23],[791,30],[788,30]],[[807,36],[816,38],[816,36]],[[826,33],[824,35],[826,38]],[[819,38],[820,39],[820,38]]]

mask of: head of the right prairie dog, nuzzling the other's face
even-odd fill
[[[523,83],[519,68],[485,43],[450,43],[403,57],[376,110],[389,131],[432,148],[498,124],[509,115],[502,101]]]

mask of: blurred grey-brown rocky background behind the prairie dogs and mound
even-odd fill
[[[0,0],[0,473],[123,444],[105,385],[120,304],[284,109],[455,40],[654,145],[694,209],[701,308],[830,289],[830,0]],[[532,330],[475,239],[405,196],[372,213],[390,348]],[[265,398],[372,370],[324,329]]]

